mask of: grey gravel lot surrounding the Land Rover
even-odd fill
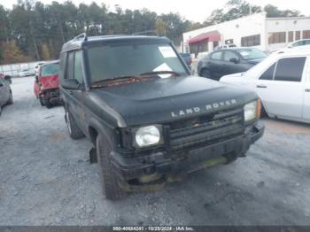
[[[62,107],[14,79],[0,117],[0,225],[310,225],[310,127],[265,120],[266,134],[229,166],[112,203],[86,139],[66,133]]]

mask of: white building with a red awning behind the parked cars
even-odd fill
[[[270,51],[305,38],[310,38],[310,17],[267,18],[260,12],[184,33],[182,51],[198,54],[231,43]]]

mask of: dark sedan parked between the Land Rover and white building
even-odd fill
[[[199,60],[198,75],[218,81],[223,75],[244,72],[266,57],[255,48],[215,50]]]

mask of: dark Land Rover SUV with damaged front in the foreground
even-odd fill
[[[108,199],[229,163],[263,135],[258,95],[190,76],[165,37],[79,35],[59,77],[68,132],[93,144]]]

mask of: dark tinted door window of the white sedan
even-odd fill
[[[283,58],[278,61],[275,81],[301,81],[306,58]]]

